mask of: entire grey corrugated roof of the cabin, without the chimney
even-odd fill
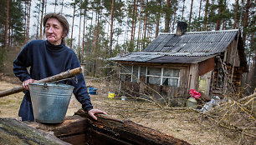
[[[110,58],[128,62],[202,62],[224,52],[238,30],[186,32],[182,36],[161,33],[142,52],[131,52]]]

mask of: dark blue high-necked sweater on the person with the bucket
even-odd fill
[[[29,72],[28,67],[30,67]],[[74,51],[66,47],[63,42],[58,46],[54,46],[43,40],[28,42],[13,62],[13,72],[22,82],[30,78],[40,80],[45,77],[51,77],[76,67],[80,67],[80,64]],[[76,77],[78,79],[77,83],[74,81],[69,81],[68,83],[74,86],[74,96],[82,104],[84,111],[88,112],[93,106],[90,102],[84,76],[79,74]],[[23,121],[33,120],[30,94],[28,91],[24,93],[25,96],[19,110],[19,116],[23,118]]]

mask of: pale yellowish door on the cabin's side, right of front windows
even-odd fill
[[[207,72],[202,76],[199,76],[198,91],[202,91],[207,96],[209,96],[209,92],[210,92],[211,76],[212,76],[212,71]]]

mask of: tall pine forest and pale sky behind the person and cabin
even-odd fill
[[[256,87],[252,0],[0,0],[0,6],[2,73],[12,73],[8,62],[25,43],[45,39],[45,13],[62,13],[70,25],[66,45],[86,63],[87,76],[107,76],[109,57],[141,51],[160,32],[176,32],[182,21],[188,24],[187,32],[240,29],[249,66],[243,84]]]

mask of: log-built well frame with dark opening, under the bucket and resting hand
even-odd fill
[[[98,120],[90,118],[86,112],[79,110],[72,117],[65,117],[59,124],[43,124],[25,122],[30,127],[54,132],[61,140],[71,144],[96,145],[161,145],[189,143],[168,136],[151,128],[143,127],[135,122],[122,121],[103,114],[97,114]]]

